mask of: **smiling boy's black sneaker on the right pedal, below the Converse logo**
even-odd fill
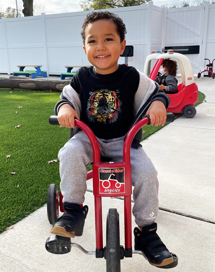
[[[142,232],[134,228],[134,249],[145,253],[149,264],[156,267],[165,266],[173,262],[172,254],[156,233],[157,223],[145,226]]]

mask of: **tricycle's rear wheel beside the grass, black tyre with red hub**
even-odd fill
[[[47,215],[50,224],[54,224],[59,216],[59,195],[56,184],[50,184],[47,193]]]

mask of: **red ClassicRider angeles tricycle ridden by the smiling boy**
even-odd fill
[[[166,122],[172,122],[174,114],[168,113]],[[50,116],[51,125],[59,125],[57,116]],[[113,160],[107,162],[100,161],[100,149],[98,140],[91,129],[82,121],[75,119],[75,125],[81,128],[88,136],[93,148],[93,165],[92,170],[87,174],[87,180],[93,178],[93,194],[95,197],[95,251],[86,251],[82,246],[71,243],[71,238],[53,235],[46,241],[47,251],[53,254],[65,254],[71,251],[71,247],[77,247],[85,254],[95,254],[96,258],[106,259],[107,272],[120,272],[120,260],[124,257],[132,257],[133,254],[142,254],[146,259],[143,251],[132,250],[132,230],[131,230],[131,163],[130,163],[130,147],[132,140],[144,125],[150,124],[149,116],[138,121],[127,134],[123,148],[123,162],[115,162]],[[114,179],[114,173],[120,172],[119,178]],[[110,173],[109,178],[105,178],[103,173]],[[101,197],[124,197],[124,231],[125,231],[125,247],[120,245],[120,228],[119,214],[117,209],[109,209],[107,214],[106,228],[106,246],[103,247],[102,233],[102,205]],[[63,196],[58,194],[56,184],[51,184],[47,194],[47,213],[50,224],[54,224],[58,219],[59,207],[63,209]],[[172,268],[178,264],[178,257],[171,253],[173,262],[159,268]]]

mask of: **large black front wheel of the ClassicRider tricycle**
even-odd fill
[[[117,209],[109,209],[107,214],[106,271],[120,272],[120,224]]]

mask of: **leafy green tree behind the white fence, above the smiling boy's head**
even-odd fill
[[[83,10],[89,10],[89,8],[104,9],[104,8],[120,8],[120,7],[130,7],[130,6],[138,6],[145,5],[150,0],[84,0],[82,4],[80,4]]]

